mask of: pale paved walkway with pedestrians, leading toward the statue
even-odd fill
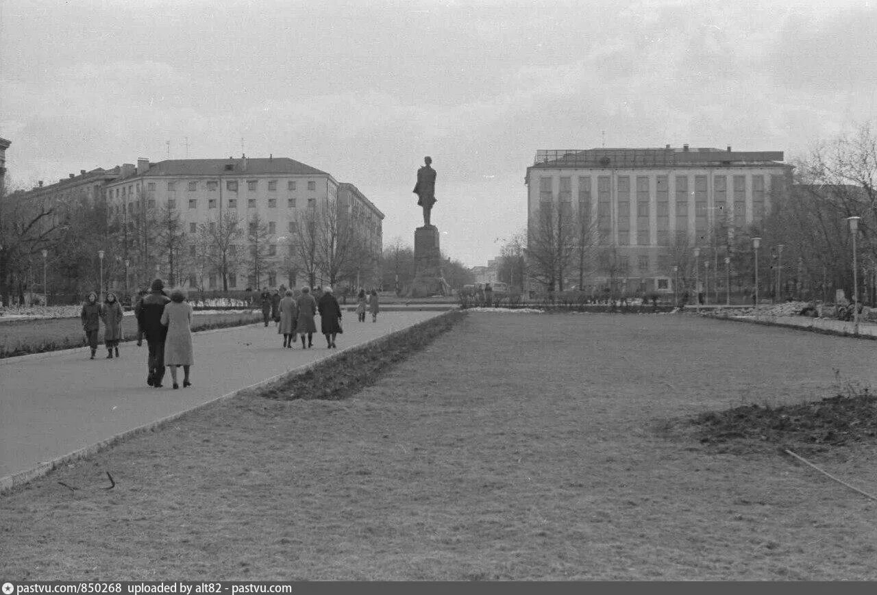
[[[122,344],[119,359],[99,349],[92,361],[87,347],[0,359],[0,478],[439,314],[382,313],[375,323],[346,315],[337,350],[327,350],[322,335],[312,349],[301,342],[283,349],[273,324],[196,333],[193,386],[179,390],[171,388],[170,372],[162,388],[146,386],[146,343]]]

